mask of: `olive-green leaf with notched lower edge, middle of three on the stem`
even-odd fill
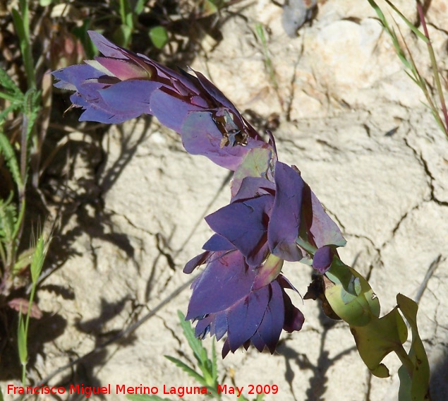
[[[384,378],[389,369],[381,363],[392,351],[399,351],[408,337],[408,329],[401,318],[398,306],[382,318],[373,318],[368,325],[351,326],[356,347],[365,365],[373,375]]]

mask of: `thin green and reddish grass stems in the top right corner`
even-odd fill
[[[411,54],[411,51],[409,50],[408,45],[406,44],[406,41],[404,40],[403,36],[400,36],[401,39],[403,39],[404,46],[406,47],[403,49],[401,47],[401,44],[399,42],[399,37],[396,35],[396,31],[394,27],[391,27],[389,23],[387,22],[387,18],[385,17],[385,13],[381,10],[380,6],[378,6],[374,0],[368,0],[370,6],[375,10],[377,13],[377,16],[380,20],[380,23],[382,25],[382,28],[387,32],[387,34],[391,37],[392,44],[394,45],[395,51],[403,65],[406,67],[406,74],[413,80],[414,83],[422,90],[423,94],[425,95],[426,101],[428,102],[428,107],[430,108],[432,115],[435,118],[435,121],[437,121],[437,125],[440,127],[442,132],[447,136],[448,138],[448,112],[447,112],[447,105],[444,100],[443,90],[442,90],[442,84],[440,80],[440,73],[437,68],[437,61],[435,59],[435,53],[434,49],[431,44],[430,35],[428,32],[428,27],[426,25],[425,21],[425,15],[423,13],[423,6],[420,4],[420,1],[417,1],[417,10],[418,10],[418,16],[420,17],[420,23],[423,27],[423,32],[420,32],[411,21],[409,21],[401,11],[399,11],[394,4],[392,4],[389,0],[385,0],[386,3],[394,10],[398,16],[404,20],[404,23],[408,25],[408,27],[411,29],[411,31],[418,37],[418,39],[425,42],[425,44],[428,46],[428,55],[430,57],[431,61],[431,68],[432,68],[432,77],[434,78],[435,82],[435,90],[437,92],[437,95],[435,95],[431,88],[428,88],[428,83],[426,83],[425,78],[420,75],[420,72],[418,71],[418,68],[416,66],[416,63],[413,59],[413,56]],[[437,97],[439,105],[437,105]]]

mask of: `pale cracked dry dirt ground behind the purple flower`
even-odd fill
[[[416,18],[413,1],[394,3]],[[282,9],[271,1],[245,1],[231,10],[224,40],[213,47],[205,37],[192,68],[241,112],[248,110],[260,130],[279,116],[279,160],[296,164],[339,224],[348,241],[341,258],[369,277],[382,313],[395,306],[396,294],[416,298],[424,290],[418,325],[432,367],[432,400],[447,400],[448,138],[367,1],[320,2],[315,20],[298,37],[286,35]],[[445,0],[432,0],[427,18],[447,78]],[[255,35],[258,22],[268,29],[278,90]],[[429,77],[425,45],[399,25],[420,72]],[[39,292],[45,315],[38,327],[53,332],[38,350],[30,374],[35,381],[92,351],[190,280],[183,265],[211,234],[203,217],[229,200],[228,172],[188,155],[180,138],[155,120],[114,126],[102,145],[107,160],[101,169],[89,169],[87,160],[95,155],[88,149],[74,160],[73,190],[90,191],[80,182],[92,182],[98,207],[81,203],[66,222],[61,239],[69,241],[71,257]],[[425,284],[431,265],[436,268]],[[289,263],[284,273],[305,294],[310,267]],[[189,296],[183,289],[131,335],[49,383],[111,384],[106,400],[124,399],[114,391],[117,384],[157,386],[162,397],[169,397],[161,393],[164,385],[196,385],[164,358],[192,359],[176,313],[186,312]],[[315,301],[291,297],[305,315],[303,330],[283,333],[274,355],[249,349],[219,361],[221,383],[231,385],[233,376],[250,399],[249,386],[258,384],[278,385],[279,393],[265,400],[396,399],[396,359],[385,360],[391,378],[372,377],[344,323],[325,318]],[[212,341],[204,340],[209,349]]]

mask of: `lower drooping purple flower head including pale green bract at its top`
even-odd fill
[[[183,270],[206,264],[191,286],[186,317],[198,321],[200,337],[227,334],[223,357],[250,344],[274,352],[282,329],[301,330],[304,317],[286,294],[294,287],[281,274],[283,262],[304,258],[325,273],[345,243],[301,174],[276,155],[251,150],[235,176],[242,171],[231,203],[205,217],[215,232],[205,252]]]

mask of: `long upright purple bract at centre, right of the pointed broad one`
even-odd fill
[[[274,255],[285,261],[300,261],[302,253],[296,245],[301,222],[304,182],[300,174],[288,165],[275,164],[276,186],[274,208],[267,229],[267,242]]]

